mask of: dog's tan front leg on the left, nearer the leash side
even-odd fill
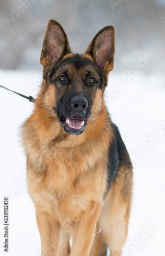
[[[36,209],[38,229],[41,237],[41,255],[57,256],[60,223],[46,212]]]

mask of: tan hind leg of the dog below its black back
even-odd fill
[[[125,174],[127,173],[128,185],[125,186]],[[127,195],[123,194],[123,187]],[[102,236],[103,244],[111,249],[111,255],[121,255],[122,247],[127,238],[127,227],[130,212],[132,194],[132,169],[121,166],[118,177],[112,184],[111,189],[102,207],[102,214],[98,220],[98,230]],[[92,256],[91,251],[91,255]],[[100,254],[95,254],[95,256]]]

